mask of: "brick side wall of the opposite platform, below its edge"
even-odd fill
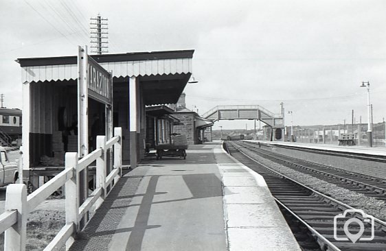
[[[280,145],[261,144],[265,150],[271,150],[279,154],[291,156],[293,158],[301,158],[303,160],[312,161],[330,167],[337,167],[347,171],[354,171],[359,174],[374,176],[377,178],[386,179],[386,159],[383,161],[366,160],[365,156],[359,154],[352,154],[352,156],[338,156],[333,152],[307,152],[311,151],[302,149],[288,149],[280,147]]]

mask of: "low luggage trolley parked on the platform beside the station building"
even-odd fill
[[[186,151],[188,149],[188,141],[184,134],[172,134],[171,144],[155,145],[156,158],[161,159],[163,156],[180,157],[186,159]]]

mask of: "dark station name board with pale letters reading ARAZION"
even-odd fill
[[[110,104],[113,97],[113,82],[111,74],[106,71],[98,62],[93,60],[91,56],[87,56],[87,87],[89,89],[89,97],[104,104]]]

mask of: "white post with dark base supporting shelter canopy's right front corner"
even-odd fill
[[[130,77],[129,80],[129,101],[130,101],[130,167],[137,167],[137,77]]]

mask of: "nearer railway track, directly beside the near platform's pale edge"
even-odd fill
[[[320,250],[386,250],[386,222],[362,215],[351,206],[277,173],[240,152],[239,147],[229,144],[229,154],[264,176],[287,221],[290,215],[291,222],[301,224],[308,229],[308,235],[314,237],[304,238],[304,233],[295,232],[303,250],[315,250],[313,241],[317,241]],[[344,215],[347,210],[352,213]],[[370,219],[370,222],[365,222],[365,219]],[[374,224],[371,219],[374,219]],[[293,229],[293,224],[289,224]]]

